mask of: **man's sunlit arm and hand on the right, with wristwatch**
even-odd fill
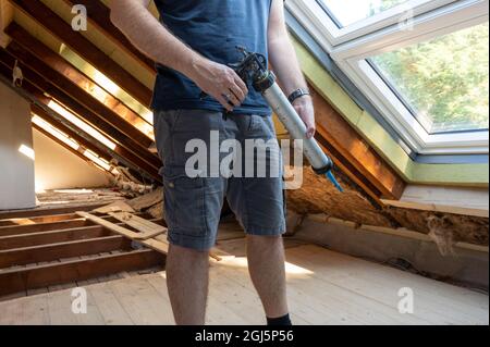
[[[270,63],[278,75],[284,92],[291,95],[298,88],[307,90],[308,85],[303,76],[296,52],[287,34],[283,0],[272,0],[268,47]],[[315,135],[315,111],[311,97],[303,96],[296,99],[293,106],[306,124],[307,136],[313,137]]]

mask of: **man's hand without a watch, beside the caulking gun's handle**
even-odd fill
[[[248,94],[247,86],[233,69],[205,58],[199,57],[193,62],[188,77],[228,111],[241,106]]]

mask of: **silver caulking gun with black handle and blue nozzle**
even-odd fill
[[[237,49],[244,54],[244,59],[240,63],[230,66],[235,70],[236,74],[245,83],[252,80],[254,89],[262,94],[291,136],[294,139],[303,140],[305,157],[310,162],[314,171],[319,175],[326,175],[340,191],[343,191],[343,188],[333,176],[332,160],[321,150],[315,138],[306,137],[306,125],[275,83],[274,74],[267,67],[266,57],[248,52],[243,47],[237,47]]]

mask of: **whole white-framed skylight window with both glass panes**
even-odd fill
[[[333,64],[324,67],[362,96],[359,106],[411,156],[489,152],[488,0],[289,0],[286,7],[307,39],[329,53]]]

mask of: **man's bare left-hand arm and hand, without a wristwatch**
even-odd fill
[[[207,95],[232,110],[240,106],[248,94],[244,82],[236,73],[215,63],[179,40],[148,10],[149,0],[112,0],[112,23],[143,53],[156,62],[176,70],[194,80]]]

